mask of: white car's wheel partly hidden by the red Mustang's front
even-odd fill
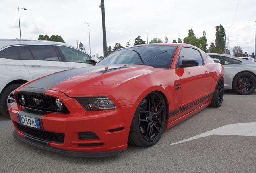
[[[8,109],[16,102],[14,99],[14,91],[21,85],[22,84],[11,84],[2,91],[0,96],[0,110],[5,117],[10,117]]]

